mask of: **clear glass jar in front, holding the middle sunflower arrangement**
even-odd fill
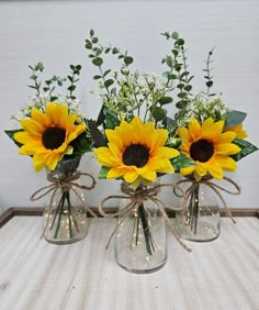
[[[132,189],[131,202],[126,198],[121,199],[115,257],[117,264],[127,272],[151,273],[167,262],[166,223],[151,199],[157,195],[153,186],[142,186]]]

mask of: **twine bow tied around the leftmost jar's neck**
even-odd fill
[[[90,186],[82,186],[82,185],[79,185],[78,182],[76,182],[76,180],[79,179],[81,176],[88,176],[91,179],[91,185]],[[71,176],[66,176],[66,177],[61,177],[61,178],[58,177],[58,176],[47,175],[47,180],[50,182],[49,185],[40,188],[38,190],[36,190],[30,197],[30,200],[36,201],[36,200],[40,200],[43,197],[47,196],[49,192],[52,192],[50,200],[49,200],[47,224],[44,229],[42,236],[44,235],[46,228],[48,225],[49,214],[52,213],[52,209],[53,209],[53,200],[54,200],[55,193],[57,192],[58,189],[61,189],[63,192],[72,190],[75,192],[75,195],[79,198],[79,200],[86,206],[87,211],[92,217],[97,218],[95,213],[86,204],[86,201],[82,199],[82,197],[76,190],[76,188],[77,189],[83,189],[83,190],[91,190],[92,188],[94,188],[97,181],[95,181],[93,176],[91,176],[90,174],[77,171],[76,174],[74,174]]]

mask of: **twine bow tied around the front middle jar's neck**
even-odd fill
[[[184,202],[180,208],[174,208],[172,206],[167,204],[166,202],[161,201],[157,195],[160,191],[160,189],[162,187],[171,187],[173,190],[177,189],[179,191],[182,192],[182,197],[184,198]],[[178,236],[177,232],[174,231],[168,215],[167,212],[165,211],[165,209],[169,209],[172,211],[181,211],[181,210],[185,210],[185,193],[184,191],[174,184],[159,184],[156,185],[151,188],[140,188],[137,190],[134,190],[133,188],[131,188],[127,184],[123,182],[121,185],[121,190],[124,195],[114,195],[114,196],[108,196],[105,197],[99,204],[99,212],[100,214],[102,214],[104,218],[106,219],[112,219],[115,217],[121,217],[121,220],[117,222],[115,229],[112,231],[108,243],[106,243],[106,248],[109,247],[112,237],[114,236],[115,232],[117,231],[117,229],[120,228],[120,225],[124,222],[124,220],[134,211],[136,210],[140,203],[143,203],[146,200],[151,200],[160,210],[161,215],[166,222],[166,225],[168,226],[168,229],[172,232],[173,236],[176,237],[176,240],[183,246],[183,248],[185,248],[188,252],[191,252],[192,250],[189,248],[183,242],[181,242],[180,237]],[[127,199],[130,200],[130,202],[122,209],[119,210],[117,212],[113,212],[113,213],[106,213],[104,211],[104,203],[111,199]]]

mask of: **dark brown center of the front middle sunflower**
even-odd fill
[[[149,159],[149,151],[142,144],[132,144],[122,155],[122,160],[127,166],[136,166],[140,168],[146,165]]]

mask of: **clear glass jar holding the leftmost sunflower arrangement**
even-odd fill
[[[80,190],[80,157],[61,159],[55,170],[47,170],[53,190],[46,196],[43,215],[44,239],[54,244],[69,244],[87,235],[87,209]]]

